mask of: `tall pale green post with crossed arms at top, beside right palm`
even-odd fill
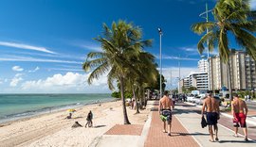
[[[206,19],[206,22],[208,22],[208,13],[212,11],[212,9],[208,10],[208,5],[206,4],[206,11],[199,14],[199,16],[201,17],[202,15],[206,14],[206,17],[204,17]],[[207,27],[207,34],[208,34],[208,27]],[[210,90],[210,49],[209,49],[209,40],[207,40],[207,47],[208,47],[208,53],[207,53],[207,62],[208,62],[208,90]]]

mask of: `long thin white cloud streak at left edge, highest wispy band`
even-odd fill
[[[16,42],[9,42],[9,41],[0,41],[0,45],[8,46],[8,47],[14,47],[14,48],[20,48],[20,49],[25,49],[25,50],[33,50],[33,51],[39,51],[39,52],[55,54],[54,52],[46,49],[45,47],[32,46],[32,45],[23,44],[23,43],[16,43]]]

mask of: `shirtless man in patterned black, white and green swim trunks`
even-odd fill
[[[171,128],[172,128],[172,110],[174,109],[174,102],[171,98],[168,97],[168,91],[164,91],[164,96],[159,100],[159,115],[160,119],[163,122],[163,132],[166,131],[166,122],[169,125],[168,136],[171,136]]]

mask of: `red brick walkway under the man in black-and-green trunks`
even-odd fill
[[[148,137],[145,140],[145,147],[198,147],[199,145],[192,138],[192,135],[182,126],[182,124],[173,116],[172,136],[163,133],[163,123],[159,118],[158,111],[152,114],[152,122]]]

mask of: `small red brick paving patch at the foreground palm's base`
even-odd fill
[[[133,135],[140,136],[143,129],[142,124],[116,124],[109,129],[105,135]]]

